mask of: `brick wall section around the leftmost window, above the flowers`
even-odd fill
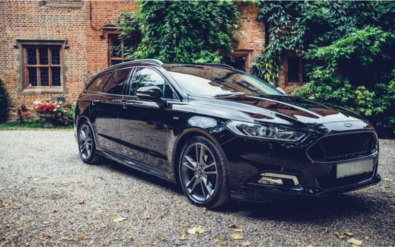
[[[40,8],[39,1],[0,1],[0,79],[10,96],[10,120],[16,118],[16,108],[25,104],[32,108],[36,99],[49,94],[17,93],[20,87],[20,49],[16,39],[66,39],[64,73],[68,100],[75,100],[86,81],[86,18],[85,9]]]

